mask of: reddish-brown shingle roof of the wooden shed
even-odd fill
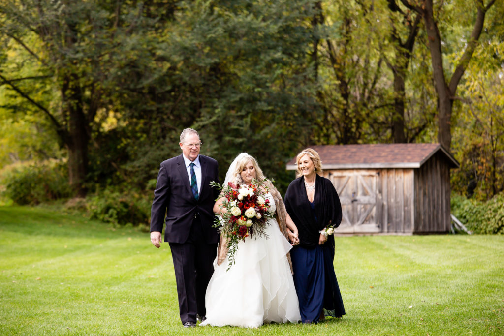
[[[459,163],[439,144],[365,144],[311,146],[321,159],[323,169],[419,168],[432,155],[441,151],[451,168]],[[295,170],[296,158],[287,163]]]

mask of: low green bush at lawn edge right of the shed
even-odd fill
[[[468,230],[481,234],[504,234],[504,193],[488,201],[452,195],[452,213]]]

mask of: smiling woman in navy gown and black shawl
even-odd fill
[[[319,153],[308,148],[296,160],[297,178],[285,194],[287,223],[296,225],[300,241],[291,250],[294,286],[301,321],[317,323],[345,314],[333,266],[332,233],[341,222],[341,203],[331,181],[319,175]]]

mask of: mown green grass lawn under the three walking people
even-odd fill
[[[504,334],[504,236],[336,238],[347,315],[182,328],[168,244],[42,208],[0,207],[0,334]]]

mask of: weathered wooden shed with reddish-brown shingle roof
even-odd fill
[[[341,234],[448,232],[450,169],[459,163],[439,144],[312,146],[340,196]],[[287,170],[297,168],[295,158]]]

